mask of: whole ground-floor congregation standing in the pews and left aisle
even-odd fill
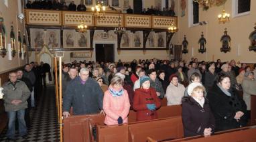
[[[27,112],[36,104],[31,101],[37,100],[31,99],[31,92],[38,98],[38,86],[45,84],[44,65],[27,64],[24,70],[11,72],[9,82],[3,85],[9,116],[7,137],[11,139],[16,116],[19,135],[27,133]],[[167,99],[168,106],[182,104],[184,137],[247,126],[251,95],[256,94],[256,64],[250,68],[235,60],[75,60],[62,63],[58,70],[62,70],[64,118],[102,113],[105,125],[121,125],[128,123],[129,111],[134,110],[137,121],[153,120],[162,106],[161,99]],[[241,90],[243,98],[239,96]]]

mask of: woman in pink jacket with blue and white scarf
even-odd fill
[[[114,76],[111,79],[109,89],[104,94],[103,110],[106,114],[105,125],[128,123],[129,96],[123,89],[123,80],[119,76]]]

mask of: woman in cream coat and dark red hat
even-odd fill
[[[185,87],[178,82],[178,76],[172,74],[169,78],[171,82],[166,89],[167,105],[177,105],[182,103]]]

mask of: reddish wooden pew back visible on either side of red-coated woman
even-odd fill
[[[176,117],[182,115],[182,106],[162,106],[157,110],[158,119],[164,119],[168,117]],[[128,115],[128,122],[132,123],[136,121],[136,111],[131,110]]]

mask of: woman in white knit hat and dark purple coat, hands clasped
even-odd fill
[[[202,84],[193,82],[188,86],[189,96],[182,98],[184,137],[210,135],[214,131],[214,116],[204,92]]]

